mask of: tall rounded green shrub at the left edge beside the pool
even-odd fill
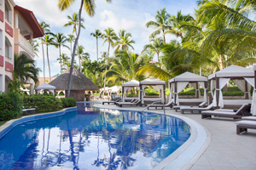
[[[0,121],[9,121],[22,115],[23,100],[15,92],[0,94]]]

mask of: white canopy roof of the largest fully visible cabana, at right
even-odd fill
[[[214,77],[254,77],[254,72],[252,69],[247,69],[238,65],[230,65],[221,71],[215,72],[208,77],[212,79]]]

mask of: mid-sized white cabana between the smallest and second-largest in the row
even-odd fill
[[[160,93],[160,96],[155,97],[147,97],[145,95],[145,88],[147,86],[152,86],[154,90]],[[164,104],[166,103],[166,82],[160,79],[149,77],[142,82],[140,82],[140,99],[142,99],[142,103],[144,104],[145,101],[162,101]]]

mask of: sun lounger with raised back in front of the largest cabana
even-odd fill
[[[219,116],[219,117],[230,117],[234,119],[241,119],[242,116],[249,116],[250,106],[244,104],[238,111],[203,111],[201,113],[201,118],[211,118],[212,116]]]

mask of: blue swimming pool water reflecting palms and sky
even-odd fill
[[[151,169],[190,136],[183,120],[78,104],[0,138],[0,169]]]

